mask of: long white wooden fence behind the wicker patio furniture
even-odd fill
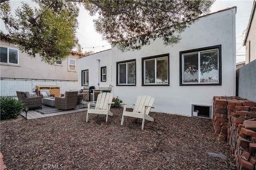
[[[28,91],[30,93],[36,90],[36,85],[57,85],[60,86],[60,93],[68,90],[78,90],[78,81],[60,81],[60,80],[34,80],[34,79],[1,79],[1,96],[17,96],[16,91]]]

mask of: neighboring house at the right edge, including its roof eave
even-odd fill
[[[245,63],[248,64],[256,59],[256,0],[253,2],[251,16],[248,22],[244,43]]]

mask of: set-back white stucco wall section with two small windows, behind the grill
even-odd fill
[[[97,61],[100,59],[100,61]],[[106,66],[106,81],[100,81],[100,67]],[[89,86],[94,86],[95,89],[98,87],[109,87],[112,83],[112,65],[111,65],[111,50],[102,51],[81,57],[78,59],[78,88],[83,89],[82,86],[82,70],[89,70]],[[99,85],[98,85],[99,83]]]

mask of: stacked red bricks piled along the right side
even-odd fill
[[[212,123],[218,141],[228,140],[237,168],[256,170],[256,103],[240,97],[214,97]]]

